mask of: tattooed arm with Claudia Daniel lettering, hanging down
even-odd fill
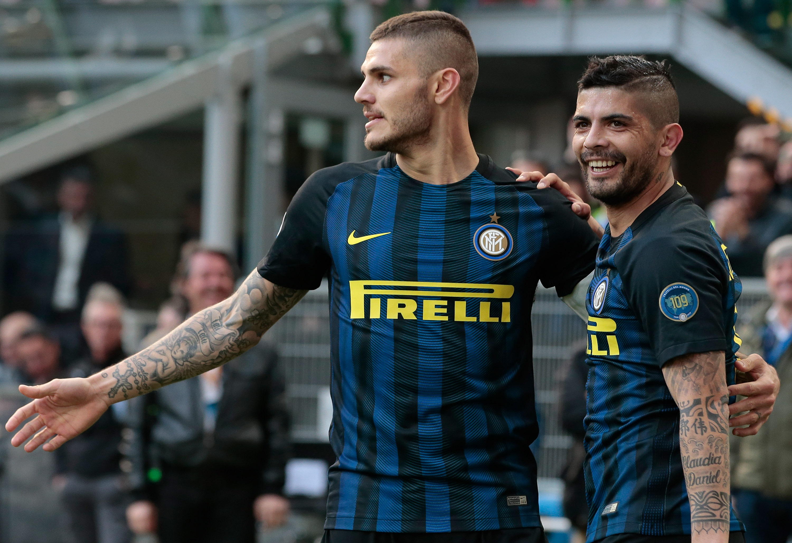
[[[729,392],[723,351],[679,356],[663,375],[680,408],[692,543],[729,541]]]

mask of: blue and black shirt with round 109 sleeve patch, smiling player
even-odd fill
[[[586,300],[587,541],[691,533],[680,410],[661,368],[676,356],[725,351],[733,384],[742,286],[725,249],[678,183],[621,236],[605,230]],[[703,424],[687,431],[705,441],[712,433]],[[733,511],[731,519],[732,531],[744,530]]]

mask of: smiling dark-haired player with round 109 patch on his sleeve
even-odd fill
[[[729,489],[742,287],[673,178],[682,128],[671,74],[642,57],[592,58],[578,89],[573,148],[609,221],[586,298],[587,541],[744,541]],[[557,178],[548,185],[569,194]],[[731,412],[749,409],[732,425],[752,427],[735,434],[756,433],[772,401]]]

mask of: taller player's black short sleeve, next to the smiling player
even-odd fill
[[[539,205],[545,211],[548,244],[539,279],[546,288],[555,287],[562,297],[594,269],[599,240],[560,192],[550,188],[543,196],[547,202]]]

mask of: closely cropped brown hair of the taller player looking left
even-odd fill
[[[404,38],[420,50],[426,76],[444,68],[459,72],[459,97],[470,106],[478,80],[478,55],[465,23],[443,11],[414,11],[383,22],[371,32],[371,43]]]

